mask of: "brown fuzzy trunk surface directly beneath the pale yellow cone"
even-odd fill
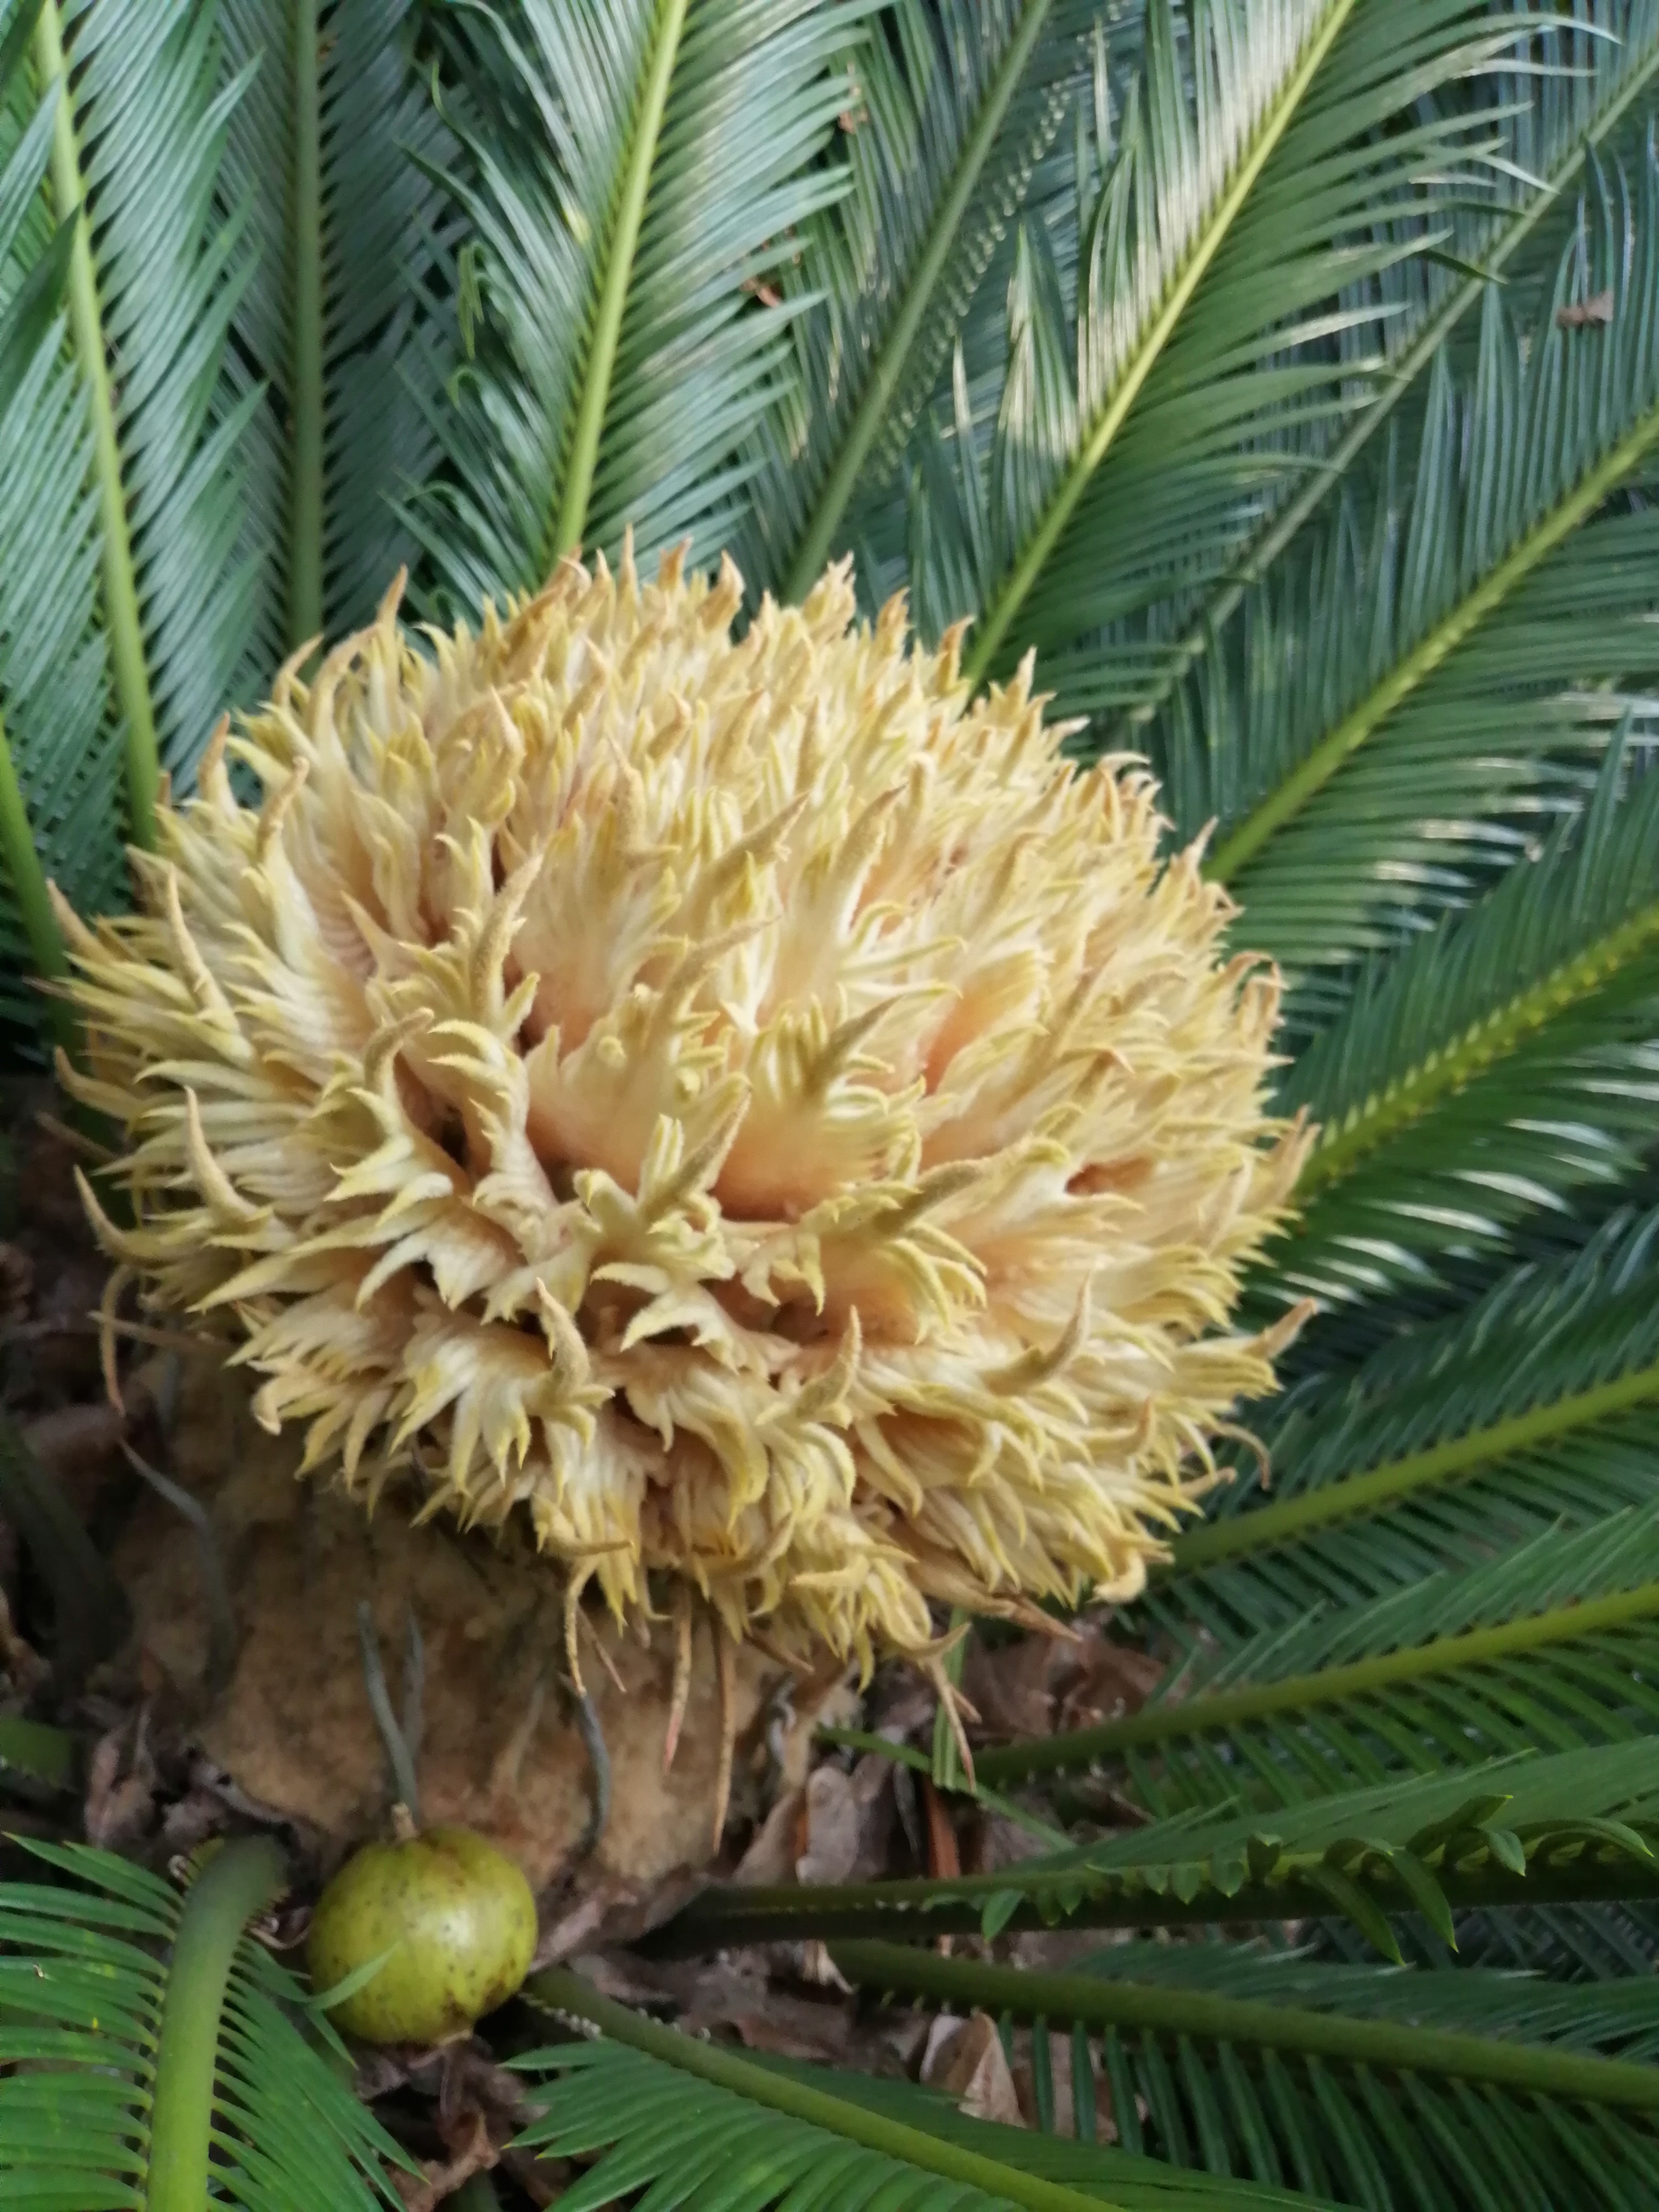
[[[648,1646],[584,1615],[582,1670],[611,1767],[591,1849],[595,1763],[566,1688],[560,1579],[405,1513],[363,1509],[294,1475],[296,1440],[265,1436],[248,1391],[212,1358],[179,1363],[168,1471],[212,1520],[234,1615],[234,1661],[208,1681],[212,1619],[199,1546],[179,1513],[139,1502],[117,1566],[150,1694],[181,1701],[210,1759],[246,1796],[314,1832],[327,1860],[387,1809],[387,1765],[358,1655],[356,1608],[380,1632],[394,1705],[409,1608],[425,1641],[422,1816],[511,1851],[538,1891],[555,1882],[646,1896],[714,1856],[721,1710],[712,1635],[695,1630],[686,1721],[664,1774],[675,1637]],[[805,1770],[810,1717],[841,1670],[792,1683],[743,1650],[734,1666],[734,1812],[757,1812]],[[781,1765],[779,1765],[781,1759]],[[799,1772],[790,1772],[799,1770]]]

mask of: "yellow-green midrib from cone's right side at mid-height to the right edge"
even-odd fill
[[[1352,1106],[1340,1121],[1321,1133],[1310,1152],[1296,1183],[1298,1203],[1340,1183],[1369,1152],[1418,1124],[1442,1099],[1464,1091],[1478,1075],[1517,1051],[1528,1035],[1606,989],[1655,938],[1659,938],[1659,900],[1571,960],[1562,960],[1504,1006],[1471,1022],[1449,1046],[1407,1066],[1383,1091]]]

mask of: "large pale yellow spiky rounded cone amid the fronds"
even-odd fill
[[[232,741],[263,807],[215,745],[75,925],[75,1084],[106,1248],[307,1469],[867,1666],[1139,1590],[1272,1385],[1228,1314],[1303,1137],[1137,765],[845,566],[739,606],[568,562],[418,648],[389,595]]]

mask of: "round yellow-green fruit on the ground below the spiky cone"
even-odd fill
[[[535,1951],[522,1871],[467,1827],[365,1843],[316,1902],[312,1986],[334,1989],[389,1951],[330,2020],[365,2044],[440,2044],[520,1986]]]

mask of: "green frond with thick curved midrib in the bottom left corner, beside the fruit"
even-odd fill
[[[403,2152],[243,1933],[281,1887],[232,1843],[190,1889],[29,1845],[66,1885],[0,1885],[0,2154],[13,2212],[372,2212]],[[338,2046],[334,2046],[338,2051]]]

